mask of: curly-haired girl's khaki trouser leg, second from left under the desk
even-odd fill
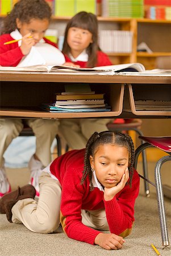
[[[36,136],[36,156],[43,166],[51,161],[51,145],[58,133],[59,120],[28,119],[28,126],[32,128]]]

